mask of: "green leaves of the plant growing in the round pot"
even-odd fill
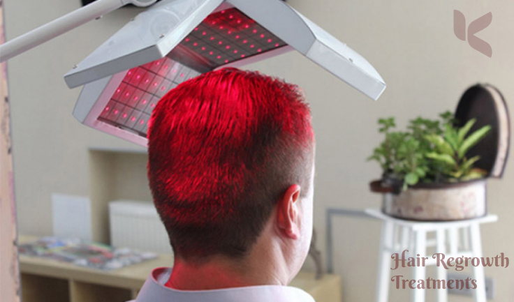
[[[409,121],[407,131],[393,131],[395,119],[379,119],[379,132],[385,139],[368,160],[381,165],[383,179],[402,183],[404,189],[422,182],[457,182],[478,179],[485,175],[474,164],[478,156],[466,154],[490,131],[484,126],[469,134],[476,121],[455,127],[451,112],[430,120],[418,117]]]

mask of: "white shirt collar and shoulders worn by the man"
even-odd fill
[[[311,295],[296,287],[259,285],[199,291],[182,291],[164,286],[171,269],[154,269],[142,286],[135,302],[315,302]]]

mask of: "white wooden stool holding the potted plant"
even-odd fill
[[[413,280],[425,280],[426,266],[435,265],[436,259],[432,254],[427,255],[427,248],[434,247],[436,252],[449,257],[482,257],[482,241],[480,238],[480,223],[495,222],[496,215],[487,215],[470,220],[448,222],[421,222],[402,220],[383,214],[379,209],[366,209],[369,216],[382,220],[381,243],[379,254],[379,271],[376,284],[376,302],[387,302],[389,286],[391,283],[391,255],[403,250],[409,250],[409,256],[428,257],[425,266],[413,266]],[[462,231],[462,234],[460,234]],[[436,239],[427,240],[427,233],[435,232]],[[462,239],[462,240],[460,240]],[[449,249],[447,250],[446,245]],[[472,266],[473,279],[477,288],[473,289],[476,302],[485,302],[485,275],[483,266]],[[436,268],[436,278],[446,280],[446,269],[443,266]],[[417,284],[417,282],[416,282]],[[448,301],[448,289],[434,289],[437,291],[437,301]],[[425,301],[425,289],[411,289],[412,302]]]

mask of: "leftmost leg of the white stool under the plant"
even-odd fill
[[[376,278],[376,302],[387,302],[389,298],[389,271],[391,264],[391,249],[394,244],[392,242],[394,229],[394,224],[392,222],[383,222],[380,239],[379,273]]]

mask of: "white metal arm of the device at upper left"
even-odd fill
[[[63,33],[80,27],[82,24],[108,14],[113,10],[117,10],[126,4],[131,3],[135,6],[150,6],[155,2],[156,0],[96,0],[89,3],[87,6],[68,13],[68,15],[59,17],[7,43],[3,43],[0,45],[0,62],[22,54],[48,40],[61,36]]]

